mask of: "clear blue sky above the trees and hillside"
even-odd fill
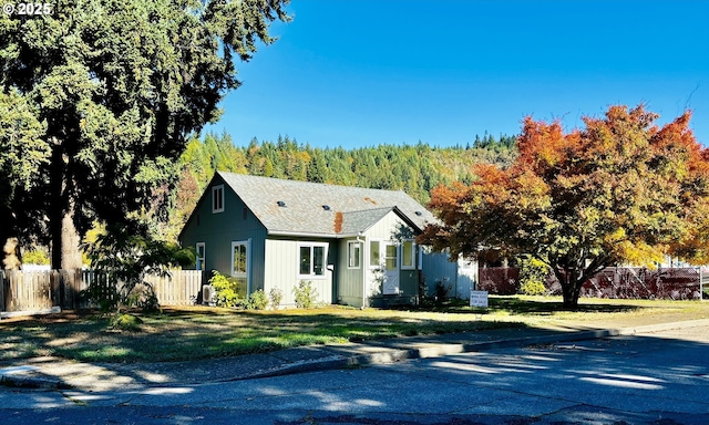
[[[709,146],[709,1],[294,0],[239,63],[220,121],[237,145],[465,145],[526,115],[567,129],[644,103],[686,108]]]

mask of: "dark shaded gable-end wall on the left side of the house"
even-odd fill
[[[224,211],[213,212],[212,188],[224,185]],[[205,243],[205,271],[232,272],[232,242],[250,240],[249,290],[264,289],[266,228],[242,199],[217,176],[205,190],[181,237],[183,247]],[[209,279],[212,276],[207,276]]]

